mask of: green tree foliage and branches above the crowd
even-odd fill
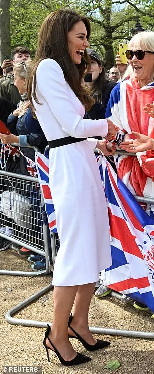
[[[109,68],[119,42],[131,39],[136,18],[145,29],[153,29],[153,5],[154,0],[10,0],[11,46],[26,45],[34,54],[43,19],[58,8],[73,8],[89,17],[90,46],[100,52]]]

